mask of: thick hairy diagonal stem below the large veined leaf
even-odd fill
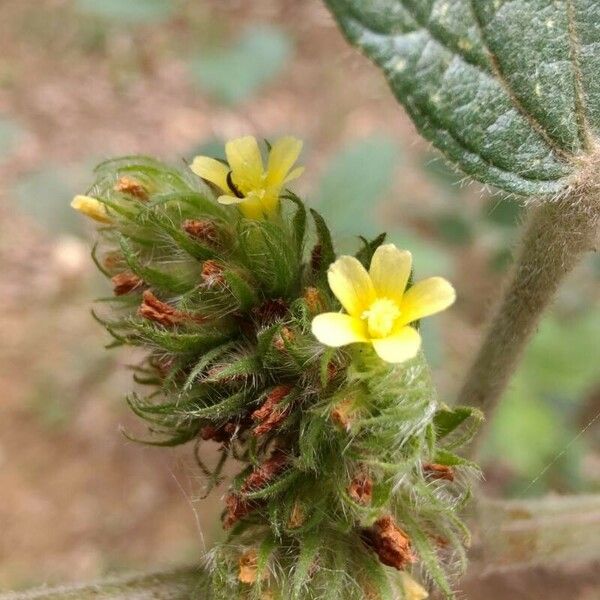
[[[488,420],[561,282],[594,248],[599,164],[589,159],[568,193],[530,209],[512,280],[459,395]]]

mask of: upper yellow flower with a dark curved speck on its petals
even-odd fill
[[[292,170],[301,151],[300,140],[290,136],[278,139],[269,151],[265,171],[256,138],[249,135],[227,142],[228,165],[197,156],[191,169],[224,192],[218,199],[221,204],[239,204],[246,217],[260,219],[277,212],[283,186],[302,175],[304,167]]]

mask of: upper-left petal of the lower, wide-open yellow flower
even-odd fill
[[[353,256],[342,256],[327,273],[329,287],[346,312],[361,317],[375,300],[375,289],[369,274]]]

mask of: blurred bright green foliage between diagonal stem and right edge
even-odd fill
[[[509,491],[522,495],[524,486],[529,494],[585,488],[579,459],[587,438],[578,438],[585,426],[579,416],[598,384],[598,340],[598,310],[550,315],[542,323],[492,421],[484,449],[490,463],[516,474]]]

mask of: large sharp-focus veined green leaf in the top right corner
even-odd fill
[[[600,126],[596,0],[326,0],[420,132],[469,175],[565,189]]]

